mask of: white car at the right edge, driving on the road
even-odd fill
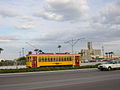
[[[112,70],[112,69],[119,69],[120,68],[120,60],[113,60],[113,61],[107,61],[104,64],[98,65],[98,69],[103,70]]]

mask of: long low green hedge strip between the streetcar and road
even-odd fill
[[[23,69],[0,69],[0,73],[19,73],[19,72],[38,72],[38,71],[56,71],[56,70],[71,70],[71,69],[85,69],[97,68],[99,64],[88,66],[73,67],[43,67],[43,68],[23,68]]]

